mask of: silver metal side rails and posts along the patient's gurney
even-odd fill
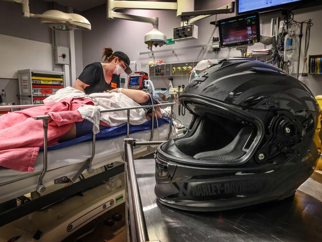
[[[168,133],[168,139],[171,135],[172,132],[172,109],[173,105],[175,103],[164,103],[164,104],[156,104],[156,105],[145,105],[145,106],[136,106],[136,107],[129,107],[129,108],[117,108],[117,109],[108,109],[108,110],[102,110],[100,113],[110,113],[110,112],[117,112],[117,111],[124,111],[127,110],[127,129],[126,129],[126,137],[129,137],[129,132],[130,132],[130,110],[134,109],[145,109],[145,108],[152,108],[154,107],[163,107],[163,106],[171,106],[171,116],[170,116],[170,128],[169,128],[169,133]],[[43,104],[36,104],[36,105],[11,105],[11,106],[0,106],[1,109],[19,109],[19,108],[32,108],[32,107],[38,107],[38,106],[44,106]],[[46,190],[45,185],[43,184],[43,179],[47,173],[48,169],[48,120],[51,119],[49,115],[43,115],[43,116],[36,116],[34,118],[35,120],[42,120],[43,121],[43,129],[44,129],[44,165],[43,165],[43,170],[41,172],[41,175],[38,180],[38,185],[37,185],[37,191],[39,193],[44,192]],[[152,126],[151,126],[151,138],[150,140],[153,139],[153,132],[154,130],[154,118],[152,118]],[[85,169],[87,169],[88,173],[92,173],[94,169],[92,168],[92,161],[95,156],[95,143],[96,143],[96,137],[93,133],[93,140],[92,140],[92,155],[90,158],[88,158],[83,166],[80,168],[80,170],[73,176],[73,178],[69,178],[67,176],[63,176],[61,178],[55,179],[54,183],[67,183],[67,182],[75,182],[77,178],[83,173]]]

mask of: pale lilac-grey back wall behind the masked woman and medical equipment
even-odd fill
[[[230,0],[195,0],[195,9],[215,9],[222,5],[228,4]],[[120,10],[121,11],[121,10]],[[123,10],[122,12],[148,16],[159,17],[159,30],[163,32],[167,38],[172,38],[172,28],[180,26],[180,18],[176,17],[175,10]],[[148,62],[150,60],[162,60],[164,63],[171,62],[184,62],[192,60],[202,59],[223,59],[229,57],[238,57],[240,52],[236,49],[224,48],[219,53],[214,53],[210,47],[202,48],[190,48],[185,50],[177,50],[174,52],[161,52],[155,53],[152,57],[148,55],[139,55],[140,52],[147,52],[146,45],[144,44],[144,35],[152,30],[152,25],[148,23],[131,22],[127,20],[106,19],[106,5],[101,5],[87,11],[83,11],[82,14],[91,22],[92,31],[82,32],[82,44],[83,44],[83,65],[94,61],[100,61],[102,57],[103,48],[106,46],[111,47],[113,50],[120,50],[125,52],[130,60],[136,60],[137,70],[148,72]],[[219,14],[216,16],[210,16],[208,18],[195,22],[198,25],[198,39],[187,40],[182,42],[176,42],[174,45],[168,45],[163,47],[154,48],[154,50],[166,50],[171,48],[206,45],[212,40],[212,37],[218,37],[218,29],[210,22],[215,19],[227,18],[234,16],[236,13],[231,14]],[[261,34],[269,35],[270,32],[270,19],[272,17],[283,16],[280,12],[273,12],[269,14],[261,15]],[[322,54],[321,48],[321,23],[322,23],[322,5],[316,7],[308,7],[299,10],[294,10],[294,19],[297,21],[303,21],[309,18],[313,18],[314,26],[311,28],[311,42],[308,55]],[[255,44],[249,48],[250,50],[266,49],[270,46],[265,46],[261,43]],[[304,41],[302,42],[302,57],[304,53]],[[301,60],[300,72],[302,71]],[[296,66],[295,66],[296,67]],[[296,68],[294,67],[294,70]],[[77,73],[79,74],[79,73]],[[165,77],[165,81],[168,77]],[[165,84],[161,77],[152,78],[156,87],[165,87]],[[303,80],[308,87],[313,91],[315,95],[322,93],[322,76],[309,75]],[[187,84],[187,77],[173,77],[174,86]],[[177,107],[174,109],[177,113]],[[188,124],[191,116],[178,117],[184,124]]]

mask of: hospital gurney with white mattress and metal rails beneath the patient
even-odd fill
[[[168,105],[172,106],[173,103],[159,104],[155,105],[155,107]],[[14,108],[35,106],[39,105],[22,105],[15,106]],[[74,146],[53,151],[48,151],[47,147],[47,127],[48,119],[50,119],[50,117],[35,117],[37,120],[43,120],[44,123],[44,152],[39,154],[33,173],[25,174],[8,169],[0,170],[0,203],[15,199],[28,192],[34,192],[35,190],[38,191],[40,197],[1,213],[0,226],[53,204],[55,201],[64,199],[72,194],[99,184],[102,182],[102,179],[108,179],[122,173],[124,171],[124,165],[121,163],[123,138],[129,137],[130,133],[129,112],[132,109],[148,107],[151,106],[101,111],[101,113],[105,113],[127,110],[126,136],[123,135],[114,139],[100,141],[97,141],[95,136],[93,136],[92,145],[89,145],[89,142],[82,142]],[[155,126],[154,119],[152,119],[151,124],[152,126]],[[167,139],[171,134],[174,134],[171,124],[172,121],[170,119],[170,125],[161,125],[159,130],[160,139]],[[155,135],[154,132],[154,129],[151,129],[151,131],[145,130],[133,133],[131,136],[139,140],[155,140],[157,135]],[[151,147],[139,147],[135,150],[135,154],[144,155],[151,153],[153,152],[153,147]],[[66,159],[66,157],[69,158]],[[82,177],[81,180],[79,179],[80,176]],[[86,183],[86,181],[89,182]],[[57,186],[62,188],[46,194],[46,192],[48,192],[45,192],[46,187],[53,184],[58,184]],[[44,192],[45,195],[42,195]]]

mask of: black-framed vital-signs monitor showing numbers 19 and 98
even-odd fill
[[[221,19],[218,28],[222,48],[254,44],[261,39],[258,12]]]

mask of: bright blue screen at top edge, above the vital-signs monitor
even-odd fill
[[[301,0],[239,0],[238,13],[256,11],[262,8],[283,5]]]

